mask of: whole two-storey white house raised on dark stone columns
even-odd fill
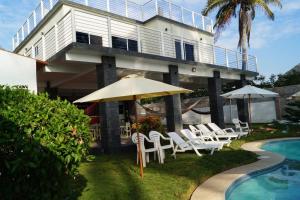
[[[15,53],[48,62],[37,70],[38,91],[73,101],[137,73],[189,89],[208,88],[212,121],[224,126],[222,84],[240,87],[253,79],[257,61],[249,55],[242,70],[240,52],[214,45],[212,25],[165,0],[42,0],[12,43]],[[179,130],[180,97],[165,100],[168,129]],[[101,104],[100,115],[104,149],[113,151],[120,140],[119,121],[111,120],[118,118],[118,103]]]

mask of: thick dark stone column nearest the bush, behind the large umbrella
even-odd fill
[[[96,65],[97,87],[103,88],[117,81],[115,57],[102,56],[102,63]],[[104,153],[118,153],[121,150],[119,103],[99,104],[101,144]]]

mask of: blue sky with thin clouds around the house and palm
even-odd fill
[[[135,0],[142,1],[142,0]],[[39,0],[0,0],[0,47],[11,50],[11,38],[25,22]],[[172,0],[173,3],[201,12],[206,0]],[[300,0],[282,0],[283,8],[271,7],[275,21],[261,9],[253,22],[250,54],[257,56],[258,70],[264,76],[284,73],[300,63]],[[210,17],[214,19],[212,13]],[[222,32],[216,45],[236,50],[237,19]]]

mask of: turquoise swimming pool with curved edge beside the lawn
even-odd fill
[[[227,190],[226,200],[299,200],[300,140],[269,142],[262,149],[279,153],[286,160],[238,179]]]

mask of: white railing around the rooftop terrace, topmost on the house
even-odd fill
[[[213,32],[211,19],[188,10],[166,0],[150,0],[145,4],[137,4],[130,0],[70,0],[107,12],[122,15],[138,21],[146,21],[160,15],[201,30]],[[12,39],[13,50],[30,34],[59,0],[41,0],[37,8],[30,14],[23,26]]]

